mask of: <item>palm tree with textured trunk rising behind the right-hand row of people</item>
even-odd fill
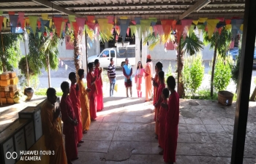
[[[203,49],[203,42],[200,41],[200,39],[196,36],[195,32],[193,31],[192,34],[189,34],[189,36],[186,37],[186,39],[181,39],[180,41],[177,41],[176,37],[173,34],[170,34],[167,38],[170,42],[176,42],[178,43],[177,47],[177,66],[178,66],[178,95],[180,97],[184,97],[184,84],[182,82],[182,70],[183,70],[183,60],[184,60],[184,52],[188,52],[190,55],[194,55],[196,52],[199,52]],[[161,41],[163,43],[167,42],[165,39],[165,36],[162,36],[162,38],[157,34],[156,36],[153,34],[148,34],[148,36],[144,39],[143,44],[146,44],[147,42],[151,42],[149,45],[149,49],[153,50],[154,47],[159,44]],[[180,44],[181,43],[181,44]],[[181,49],[180,46],[181,45]]]

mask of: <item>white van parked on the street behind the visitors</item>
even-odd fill
[[[99,59],[100,67],[108,68],[110,58],[113,58],[116,67],[124,66],[125,58],[129,59],[129,64],[135,66],[135,44],[118,48],[106,48],[99,55],[88,58],[88,63],[94,63],[95,59]]]

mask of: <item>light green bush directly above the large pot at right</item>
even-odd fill
[[[217,91],[225,90],[230,83],[232,77],[231,68],[233,65],[233,59],[229,55],[226,58],[220,56],[217,57],[217,63],[214,70],[214,89]]]

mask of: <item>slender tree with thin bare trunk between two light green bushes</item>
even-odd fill
[[[214,32],[211,38],[208,37],[208,32],[203,31],[203,41],[204,43],[210,44],[210,48],[214,48],[214,59],[211,68],[211,97],[214,94],[214,68],[217,58],[217,52],[222,57],[225,58],[227,54],[227,50],[229,49],[231,42],[231,33],[227,31],[225,26],[222,28],[221,34],[219,31]]]

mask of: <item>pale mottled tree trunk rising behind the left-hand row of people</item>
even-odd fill
[[[76,74],[78,77],[78,70],[81,68],[81,59],[82,59],[82,51],[81,51],[81,37],[80,34],[78,36],[75,36],[75,41],[74,41],[74,61],[75,61],[75,69],[76,69]]]

